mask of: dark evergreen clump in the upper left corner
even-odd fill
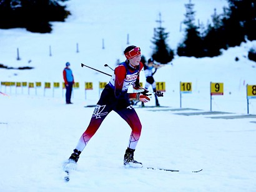
[[[0,28],[24,27],[31,32],[51,32],[49,21],[64,21],[70,14],[60,1],[66,0],[1,0]]]

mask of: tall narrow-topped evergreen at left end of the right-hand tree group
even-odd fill
[[[199,27],[195,26],[194,4],[191,0],[188,4],[185,4],[185,8],[184,24],[187,28],[185,29],[184,42],[179,44],[177,54],[187,57],[204,57],[202,38],[200,37]]]

